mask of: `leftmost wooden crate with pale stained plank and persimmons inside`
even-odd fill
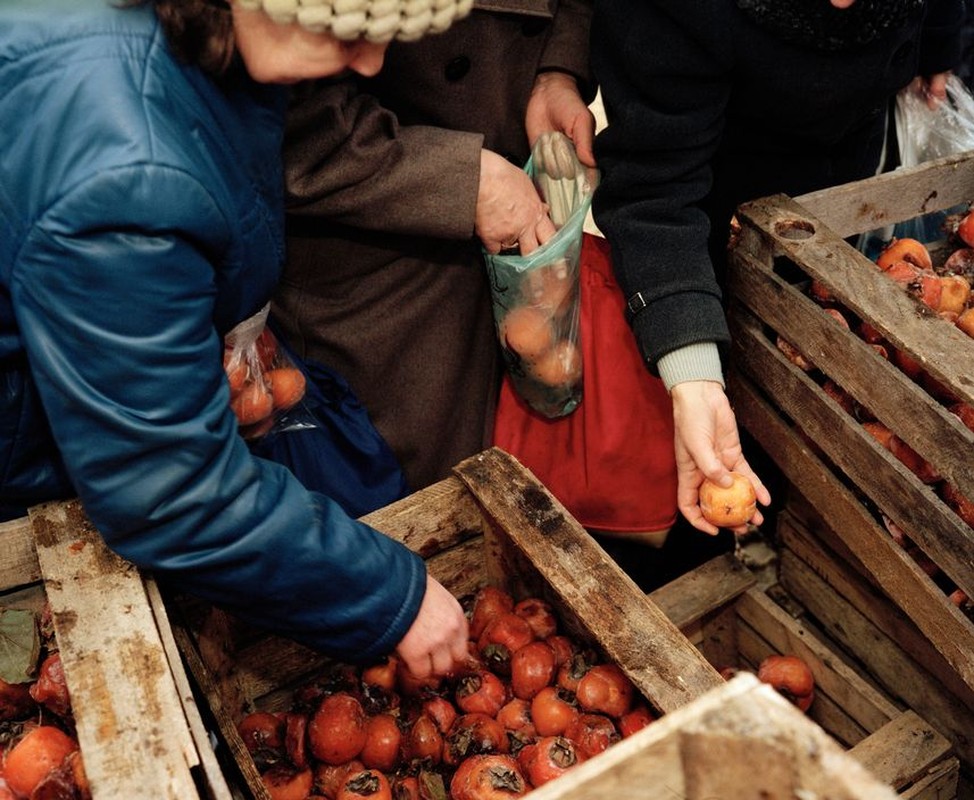
[[[76,501],[0,547],[0,798],[230,800],[154,584]]]

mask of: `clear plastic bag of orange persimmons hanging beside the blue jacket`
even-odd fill
[[[267,327],[270,306],[237,325],[224,339],[223,368],[230,382],[230,408],[240,434],[268,433],[304,397],[306,379]]]

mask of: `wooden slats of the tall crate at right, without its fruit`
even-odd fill
[[[742,231],[729,270],[734,339],[729,390],[738,421],[774,459],[791,491],[821,511],[806,528],[813,544],[804,551],[828,538],[834,547],[841,545],[839,562],[856,565],[855,577],[840,578],[831,566],[812,562],[810,574],[828,586],[819,592],[821,601],[829,600],[843,580],[854,586],[849,589],[853,605],[865,603],[867,593],[884,596],[891,608],[883,615],[891,620],[889,638],[897,643],[896,626],[909,622],[910,640],[936,661],[938,677],[928,685],[937,704],[963,706],[958,713],[965,717],[974,710],[974,623],[893,540],[880,514],[908,531],[951,584],[972,597],[974,530],[823,391],[822,377],[868,407],[971,498],[974,433],[855,333],[836,325],[806,287],[811,279],[822,282],[959,400],[974,403],[974,341],[925,313],[845,240],[971,199],[974,154],[794,199],[763,198],[739,210]],[[932,243],[935,251],[937,246]],[[800,343],[817,371],[803,372],[788,361],[776,347],[778,336]],[[776,500],[780,504],[783,498]],[[859,610],[871,613],[865,605]],[[879,648],[872,637],[846,638],[856,657],[876,661]],[[907,691],[915,689],[908,671],[887,686],[899,697],[916,694]],[[970,768],[969,734],[961,735],[962,725],[948,725],[949,716],[933,713],[932,703],[920,710],[929,710],[936,717],[931,721],[943,725]]]

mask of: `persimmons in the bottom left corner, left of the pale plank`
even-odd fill
[[[37,677],[0,679],[0,800],[90,800],[60,655],[41,618]]]

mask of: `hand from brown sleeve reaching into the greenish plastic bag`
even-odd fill
[[[517,245],[527,255],[555,235],[548,206],[528,174],[490,150],[480,151],[474,224],[491,254]]]

